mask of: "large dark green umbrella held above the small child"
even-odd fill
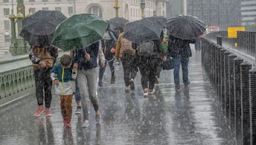
[[[84,48],[102,39],[108,22],[97,15],[73,15],[61,22],[52,37],[52,45],[64,52]]]

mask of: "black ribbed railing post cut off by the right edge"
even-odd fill
[[[256,67],[249,71],[250,90],[250,142],[256,144]]]

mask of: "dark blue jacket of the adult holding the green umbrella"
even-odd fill
[[[89,61],[86,61],[85,59],[85,54],[89,53],[91,56],[91,59]],[[97,57],[99,53],[99,41],[96,43],[93,43],[92,45],[86,47],[86,48],[81,48],[81,49],[76,49],[73,52],[72,55],[72,61],[73,63],[77,63],[79,69],[84,68],[84,70],[88,69],[93,69],[97,67]]]

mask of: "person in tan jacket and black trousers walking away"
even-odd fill
[[[137,71],[134,67],[134,58],[136,50],[132,48],[132,42],[123,38],[124,31],[121,29],[121,33],[117,39],[115,58],[116,61],[122,62],[124,69],[124,83],[125,91],[129,89],[134,90],[134,78],[136,77]]]

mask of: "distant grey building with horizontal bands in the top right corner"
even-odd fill
[[[241,24],[252,25],[256,22],[256,1],[241,2]]]

